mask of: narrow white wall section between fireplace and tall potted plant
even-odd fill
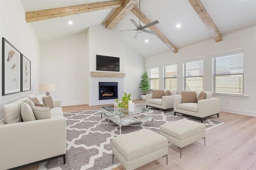
[[[144,73],[145,59],[141,57],[136,51],[124,44],[124,70],[126,77],[124,79],[124,91],[132,93],[131,99],[141,99],[143,94],[141,89],[138,89],[140,83],[140,76]]]

